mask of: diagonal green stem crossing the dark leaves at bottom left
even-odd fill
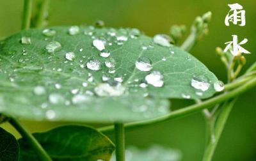
[[[28,144],[35,150],[36,154],[40,158],[41,161],[52,161],[49,155],[46,153],[44,148],[39,144],[38,141],[36,141],[35,137],[33,137],[32,134],[26,130],[26,128],[22,127],[22,125],[19,123],[19,121],[15,118],[10,118],[9,120],[10,124],[12,124],[13,127],[16,128],[16,130],[26,139]]]

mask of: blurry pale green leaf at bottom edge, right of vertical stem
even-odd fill
[[[125,150],[125,157],[126,161],[180,161],[182,155],[179,150],[153,145],[145,150],[130,146]],[[116,161],[115,155],[111,161]]]

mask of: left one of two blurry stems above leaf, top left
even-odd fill
[[[24,0],[21,29],[29,29],[32,13],[32,0]]]

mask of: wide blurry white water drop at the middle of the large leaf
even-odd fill
[[[111,86],[108,83],[102,83],[95,87],[94,91],[98,96],[120,96],[124,94],[125,88],[120,83],[115,86]]]

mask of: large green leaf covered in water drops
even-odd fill
[[[1,42],[0,112],[39,120],[135,121],[166,114],[165,98],[207,98],[215,92],[214,74],[163,36],[76,29],[29,29]],[[106,50],[93,46],[96,40]],[[191,86],[193,78],[198,89]],[[207,90],[200,90],[205,84]]]

